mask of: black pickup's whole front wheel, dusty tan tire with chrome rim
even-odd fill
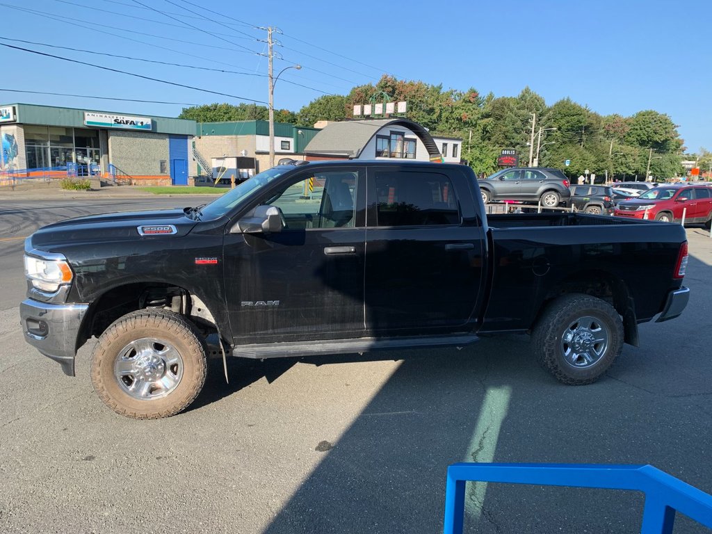
[[[158,419],[182,412],[205,383],[204,342],[182,315],[139,310],[116,320],[101,335],[91,380],[117,414]]]

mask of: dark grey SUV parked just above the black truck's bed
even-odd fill
[[[555,208],[566,205],[571,197],[569,180],[559,169],[513,167],[478,183],[485,204],[493,200],[520,200]]]

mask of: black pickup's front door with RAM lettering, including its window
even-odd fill
[[[225,290],[239,342],[360,337],[364,331],[365,172],[318,168],[257,204],[277,206],[283,229],[228,234]]]

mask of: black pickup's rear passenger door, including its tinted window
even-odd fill
[[[370,167],[367,191],[367,334],[467,330],[481,293],[484,243],[464,175]]]

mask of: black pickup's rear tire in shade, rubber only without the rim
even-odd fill
[[[609,342],[600,358],[589,367],[575,367],[565,359],[563,336],[578,318],[595,318],[607,331]],[[616,360],[623,348],[623,322],[612,305],[600,298],[570,293],[553,300],[532,331],[534,355],[559,382],[584,385],[595,382]]]

